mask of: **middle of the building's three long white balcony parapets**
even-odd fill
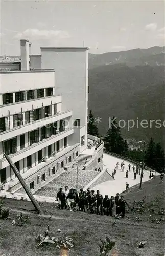
[[[53,115],[53,116],[46,117],[44,119],[39,119],[37,121],[15,127],[14,129],[2,132],[1,141],[8,140],[15,136],[30,132],[32,130],[41,128],[42,126],[49,125],[51,123],[54,123],[61,119],[65,119],[70,116],[72,116],[72,111],[65,111],[65,112],[57,113],[56,115]]]

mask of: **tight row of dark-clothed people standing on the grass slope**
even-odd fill
[[[91,214],[113,216],[114,197],[111,196],[109,198],[108,195],[105,195],[103,198],[99,190],[96,191],[96,194],[90,188],[87,191],[80,189],[79,193],[77,193],[76,189],[69,190],[68,186],[66,186],[64,190],[62,188],[59,189],[56,200],[58,201],[59,209],[62,210],[68,208],[70,211],[79,210],[90,212]],[[124,197],[121,196],[119,198],[119,194],[116,194],[115,205],[116,214],[121,214],[122,218],[124,218],[126,205],[128,206]]]

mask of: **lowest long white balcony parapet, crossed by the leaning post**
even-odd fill
[[[45,148],[46,146],[49,146],[49,145],[63,139],[64,137],[73,134],[73,133],[74,133],[74,129],[68,128],[61,133],[52,135],[50,138],[43,139],[42,141],[39,141],[36,144],[32,144],[29,147],[25,147],[25,148],[23,148],[23,150],[17,151],[15,154],[9,155],[9,157],[15,163],[25,157],[28,157],[29,155],[31,155],[39,150],[42,150],[42,148]],[[1,159],[0,160],[0,168],[3,169],[3,168],[6,168],[7,166],[9,166],[9,163],[6,160],[6,158]]]

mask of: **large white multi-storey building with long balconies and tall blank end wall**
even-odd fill
[[[0,181],[9,191],[21,185],[3,153],[36,189],[87,146],[88,48],[20,48],[19,69],[0,70]]]

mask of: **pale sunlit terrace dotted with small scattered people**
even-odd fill
[[[112,172],[114,170],[116,163],[119,162],[119,164],[121,164],[122,159],[104,153],[103,161],[104,161],[104,168],[108,168],[108,172],[112,175]],[[95,190],[95,192],[97,190],[100,190],[100,193],[103,196],[107,194],[110,197],[110,196],[115,196],[116,193],[122,193],[126,189],[126,182],[128,182],[129,187],[139,184],[140,176],[136,175],[136,180],[134,180],[134,174],[133,174],[132,168],[131,168],[131,172],[128,173],[128,178],[126,178],[126,170],[128,170],[128,165],[130,163],[130,165],[133,166],[133,164],[128,161],[124,161],[124,163],[125,163],[125,171],[122,172],[121,167],[119,165],[119,169],[116,171],[116,175],[114,175],[115,180],[103,182],[95,187],[91,187],[91,189]],[[144,178],[142,179],[142,182],[150,180],[149,174],[150,174],[149,171],[144,170]]]

